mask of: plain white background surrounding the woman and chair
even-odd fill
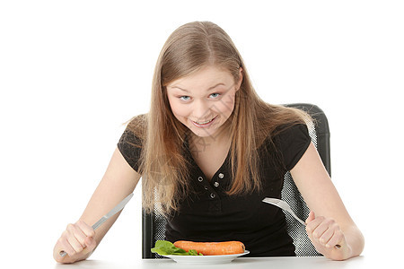
[[[2,261],[53,268],[52,248],[123,124],[149,108],[163,42],[205,20],[233,38],[262,99],[325,111],[332,178],[364,232],[364,256],[399,253],[403,13],[388,0],[2,1]],[[92,258],[141,257],[139,190]]]

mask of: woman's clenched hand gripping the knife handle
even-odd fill
[[[57,240],[53,249],[53,257],[58,263],[64,264],[86,259],[97,247],[94,235],[95,231],[84,221],[68,224],[62,236]],[[66,252],[66,256],[60,255],[62,250]]]

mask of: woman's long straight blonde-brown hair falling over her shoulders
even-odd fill
[[[166,86],[206,65],[225,68],[234,82],[242,67],[242,85],[236,91],[233,114],[228,119],[233,173],[228,195],[259,189],[259,146],[280,132],[281,126],[304,122],[306,115],[300,110],[269,105],[259,98],[232,39],[215,23],[180,26],[167,39],[155,65],[149,113],[136,117],[128,126],[142,140],[139,172],[147,212],[157,201],[163,213],[171,213],[191,191],[189,161],[184,155],[189,129],[172,114]]]

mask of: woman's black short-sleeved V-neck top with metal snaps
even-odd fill
[[[294,168],[310,143],[305,125],[288,127],[273,138],[273,143],[269,140],[264,143],[259,148],[262,189],[244,195],[226,194],[232,183],[229,155],[208,180],[190,152],[186,152],[194,192],[181,201],[180,210],[167,220],[166,239],[171,242],[238,240],[250,251],[249,256],[295,256],[285,214],[261,201],[265,197],[281,197],[285,172]],[[137,170],[140,140],[127,129],[118,147],[127,163]]]

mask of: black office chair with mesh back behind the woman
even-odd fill
[[[309,134],[312,137],[312,143],[317,147],[317,151],[320,153],[321,160],[324,163],[325,168],[331,175],[331,163],[329,154],[329,123],[327,117],[321,108],[306,103],[287,104],[285,107],[299,108],[308,112],[314,121],[308,123]],[[290,204],[292,210],[303,221],[307,219],[310,211],[303,200],[297,187],[294,185],[294,180],[290,173],[285,174],[284,188],[282,189],[282,199],[286,203]],[[304,226],[295,221],[289,214],[285,213],[287,230],[289,235],[294,239],[294,246],[296,247],[296,256],[321,256],[315,248],[312,246],[312,242],[307,237]],[[165,239],[165,224],[167,221],[159,211],[158,207],[154,208],[153,213],[143,212],[142,218],[142,257],[143,258],[159,258],[158,254],[154,254],[150,251],[150,248],[154,247],[156,240]]]

